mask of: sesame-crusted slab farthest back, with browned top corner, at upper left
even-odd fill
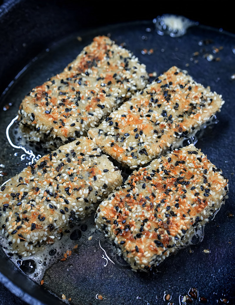
[[[23,99],[20,127],[29,141],[58,148],[86,135],[147,79],[137,57],[108,37],[95,37],[62,73]]]

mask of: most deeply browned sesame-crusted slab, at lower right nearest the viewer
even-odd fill
[[[193,144],[134,171],[95,215],[133,270],[157,266],[224,203],[228,179]]]

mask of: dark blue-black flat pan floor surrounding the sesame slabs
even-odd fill
[[[151,31],[146,31],[146,28]],[[225,104],[217,116],[217,124],[207,127],[196,146],[208,155],[212,163],[222,168],[223,173],[229,178],[229,199],[215,219],[206,225],[205,236],[201,243],[181,249],[158,269],[149,273],[131,271],[125,261],[116,256],[103,235],[95,230],[91,217],[91,220],[87,221],[86,232],[82,231],[82,229],[85,231],[85,226],[73,228],[80,229],[83,236],[74,242],[78,247],[73,250],[72,256],[61,262],[59,258],[62,258],[64,253],[62,252],[64,249],[61,249],[58,250],[61,253],[54,264],[50,266],[51,263],[47,261],[50,267],[43,276],[45,283],[42,290],[45,288],[51,291],[58,295],[60,300],[64,294],[67,299],[71,298],[72,304],[96,304],[101,302],[96,299],[97,295],[103,296],[102,304],[167,304],[169,302],[183,304],[181,297],[187,295],[190,288],[197,288],[198,295],[196,293],[196,298],[193,298],[193,304],[200,304],[202,301],[200,297],[205,297],[208,304],[227,302],[234,304],[235,79],[231,78],[235,73],[233,35],[196,26],[189,28],[187,34],[182,37],[171,38],[167,35],[158,35],[153,23],[149,21],[90,30],[79,34],[82,41],[78,41],[74,35],[56,43],[29,65],[1,99],[2,109],[3,107],[9,109],[0,112],[2,128],[0,163],[4,165],[0,167],[0,172],[2,171],[0,184],[20,172],[30,161],[27,156],[24,159],[22,156],[24,152],[13,148],[5,136],[6,127],[16,116],[23,97],[31,88],[59,73],[85,45],[91,42],[94,36],[108,33],[118,44],[122,44],[139,57],[139,60],[146,64],[149,73],[156,71],[159,75],[176,65],[188,70],[197,82],[205,86],[210,85],[212,91],[223,95]],[[214,46],[217,48],[222,46],[223,49],[215,54]],[[144,49],[153,49],[153,53],[143,54]],[[195,52],[199,52],[199,55],[195,55]],[[220,58],[220,61],[219,59],[208,61],[205,54],[212,54],[215,58]],[[13,131],[12,126],[10,136],[12,142],[17,144],[17,136],[14,137]],[[30,149],[36,156],[44,153],[41,148]],[[91,241],[87,239],[89,236],[92,236]],[[63,239],[66,241],[66,237]],[[105,249],[114,264],[108,260],[101,247]],[[210,253],[204,253],[204,249],[209,249]],[[0,263],[4,264],[4,261],[5,254],[1,251]],[[15,268],[13,263],[12,268]],[[38,270],[40,266],[37,263],[35,272]],[[22,274],[21,280],[24,277],[26,276]],[[171,295],[169,301],[164,299],[167,294]],[[49,299],[44,299],[44,302],[49,303]]]

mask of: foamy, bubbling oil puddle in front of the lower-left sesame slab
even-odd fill
[[[9,255],[7,249],[7,241],[2,235],[0,236],[0,244],[6,255],[12,260],[12,262],[19,267],[29,278],[41,283],[44,278],[45,271],[55,263],[59,263],[61,259],[64,259],[64,254],[72,251],[79,255],[84,256],[84,251],[87,247],[95,245],[95,252],[98,252],[98,258],[103,260],[103,266],[107,264],[117,264],[119,266],[127,266],[128,264],[119,257],[116,250],[105,239],[104,235],[95,228],[94,214],[86,220],[80,221],[78,224],[71,225],[72,228],[67,233],[58,234],[54,244],[43,246],[38,252],[34,253],[30,257],[21,257],[17,254]],[[77,253],[78,254],[78,253]],[[69,257],[67,257],[69,259]],[[78,261],[79,264],[79,261]]]

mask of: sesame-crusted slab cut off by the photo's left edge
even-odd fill
[[[0,224],[11,253],[27,256],[94,210],[122,176],[85,137],[25,168],[0,191]]]

